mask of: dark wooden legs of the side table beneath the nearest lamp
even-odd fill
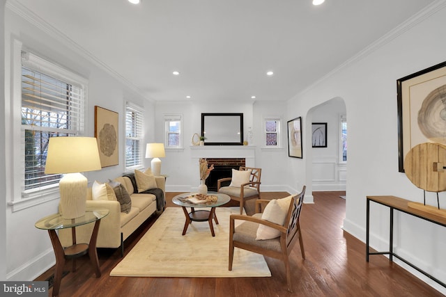
[[[93,227],[93,233],[91,234],[90,243],[80,243],[76,244],[76,233],[72,232],[74,239],[73,245],[63,249],[61,245],[61,241],[59,241],[59,236],[55,230],[48,230],[49,238],[51,239],[51,243],[54,249],[54,254],[56,255],[56,270],[54,271],[54,284],[53,284],[53,296],[59,296],[59,289],[61,287],[63,266],[65,266],[66,259],[73,260],[72,269],[75,271],[75,258],[85,255],[87,250],[89,252],[89,257],[91,260],[91,265],[93,266],[93,271],[97,278],[100,277],[100,268],[99,268],[99,259],[98,252],[96,250],[96,240],[98,239],[98,231],[99,231],[100,220],[96,220],[95,226]],[[73,228],[74,229],[74,228]]]

